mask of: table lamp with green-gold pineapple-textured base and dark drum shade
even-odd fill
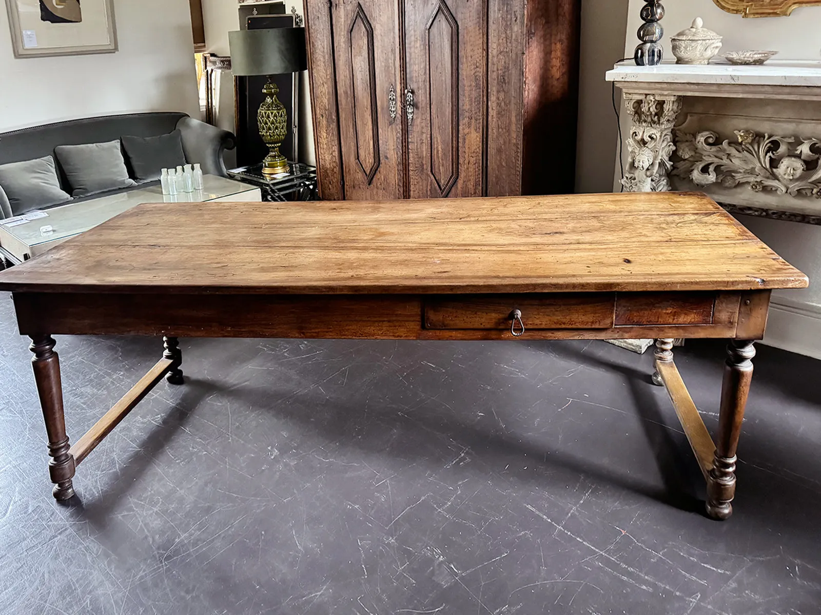
[[[264,175],[281,175],[290,171],[286,157],[279,153],[288,134],[285,105],[279,102],[277,84],[271,75],[305,71],[305,28],[270,28],[268,30],[239,30],[228,33],[231,46],[232,72],[238,77],[268,76],[263,88],[265,100],[257,115],[259,136],[270,152],[263,162]],[[296,110],[295,110],[296,112]]]

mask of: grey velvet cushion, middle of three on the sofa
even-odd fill
[[[137,183],[128,176],[119,141],[87,145],[58,145],[54,148],[74,197],[87,197],[105,190],[127,188]]]

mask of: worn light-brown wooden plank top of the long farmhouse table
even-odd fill
[[[144,204],[0,289],[435,294],[805,288],[704,194]]]

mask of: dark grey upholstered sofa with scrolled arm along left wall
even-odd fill
[[[223,177],[227,175],[222,153],[226,149],[236,147],[236,137],[227,130],[195,120],[185,113],[175,112],[90,117],[0,133],[0,165],[53,156],[55,148],[60,145],[103,143],[121,139],[123,136],[155,137],[174,130],[181,132],[186,162],[199,162],[205,174]],[[54,162],[62,189],[71,194],[66,173],[62,170],[57,156],[54,156]],[[85,198],[73,198],[70,203],[144,187],[145,184],[141,184]],[[0,209],[8,210],[8,207]],[[0,212],[0,218],[10,214],[10,210]]]

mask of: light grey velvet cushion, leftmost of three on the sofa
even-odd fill
[[[0,165],[0,186],[13,216],[71,200],[60,188],[51,156]]]

